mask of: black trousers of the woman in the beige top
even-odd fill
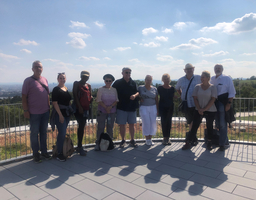
[[[203,117],[206,119],[206,127],[208,133],[208,139],[212,139],[213,135],[213,121],[215,119],[216,112],[205,111],[204,115],[200,115],[197,110],[194,112],[193,125],[189,133],[188,140],[193,141],[196,138],[197,129],[199,128]]]

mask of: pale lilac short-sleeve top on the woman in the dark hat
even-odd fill
[[[101,87],[98,89],[97,92],[97,102],[103,102],[106,106],[112,105],[114,102],[118,101],[118,96],[116,89],[113,87],[106,88],[106,87]],[[103,108],[100,104],[98,105],[98,110],[100,110],[103,113],[107,113],[106,109]],[[110,113],[115,113],[116,112],[116,106],[114,106],[111,110]]]

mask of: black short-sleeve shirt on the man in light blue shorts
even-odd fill
[[[112,87],[116,88],[119,102],[117,109],[123,111],[136,111],[139,106],[138,99],[131,100],[130,96],[138,92],[138,86],[131,78],[126,82],[123,78],[114,82]]]

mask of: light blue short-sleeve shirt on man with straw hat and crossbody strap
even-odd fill
[[[187,103],[188,103],[189,108],[195,107],[195,103],[194,103],[192,94],[193,94],[193,90],[194,90],[195,86],[197,84],[201,83],[201,76],[193,75],[191,78],[193,78],[193,80],[190,84],[190,87],[188,89],[188,94],[187,94]],[[181,90],[181,100],[182,101],[185,100],[186,91],[187,91],[190,80],[188,80],[186,76],[183,76],[178,80],[177,85],[175,87],[176,90]]]

